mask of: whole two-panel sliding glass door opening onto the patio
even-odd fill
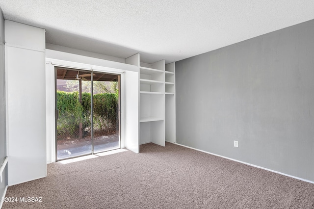
[[[119,75],[56,67],[56,160],[120,148]]]

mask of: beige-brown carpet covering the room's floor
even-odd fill
[[[313,209],[314,184],[166,143],[48,165],[43,179],[10,186],[3,209]],[[23,174],[21,174],[23,175]]]

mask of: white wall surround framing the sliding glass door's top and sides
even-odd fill
[[[47,163],[55,161],[55,66],[121,75],[121,147],[138,153],[138,66],[46,50]]]

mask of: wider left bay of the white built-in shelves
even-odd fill
[[[139,67],[139,140],[165,146],[165,60]]]

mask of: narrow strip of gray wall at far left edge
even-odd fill
[[[4,19],[0,9],[0,164],[6,157],[6,135],[5,135],[5,82],[4,82]],[[1,175],[1,174],[0,174]],[[0,197],[2,197],[7,185],[7,168],[2,172],[0,182]]]

